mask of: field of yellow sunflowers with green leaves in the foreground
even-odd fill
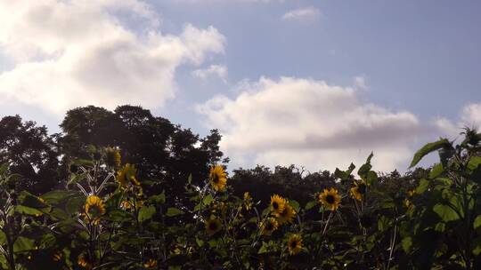
[[[120,149],[94,147],[65,188],[19,190],[5,163],[0,185],[2,269],[479,269],[481,134],[415,153],[439,162],[409,179],[366,163],[336,170],[306,203],[234,195],[222,165],[182,192],[141,179]],[[240,179],[241,180],[241,179]],[[200,183],[200,184],[196,184]],[[390,188],[388,188],[390,187]]]

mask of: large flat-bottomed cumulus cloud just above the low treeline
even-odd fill
[[[407,168],[424,132],[412,113],[363,102],[353,88],[292,77],[244,83],[236,98],[216,96],[198,110],[221,129],[234,167],[295,163],[333,170],[363,163],[372,150],[377,170]]]

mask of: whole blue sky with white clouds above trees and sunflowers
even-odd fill
[[[0,0],[0,115],[140,105],[229,167],[407,170],[481,127],[481,2]],[[436,159],[428,159],[434,162]]]

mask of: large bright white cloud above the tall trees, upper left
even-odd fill
[[[56,114],[87,104],[162,106],[175,96],[176,67],[224,52],[224,36],[192,25],[162,34],[157,18],[137,0],[0,2],[0,51],[13,62],[0,73],[4,102]]]

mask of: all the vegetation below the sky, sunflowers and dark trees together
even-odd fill
[[[364,164],[238,169],[142,107],[70,110],[61,133],[0,121],[3,269],[477,269],[481,133]]]

